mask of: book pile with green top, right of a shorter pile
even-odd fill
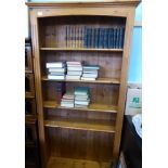
[[[88,87],[75,88],[75,107],[87,108],[90,103],[90,93]]]

